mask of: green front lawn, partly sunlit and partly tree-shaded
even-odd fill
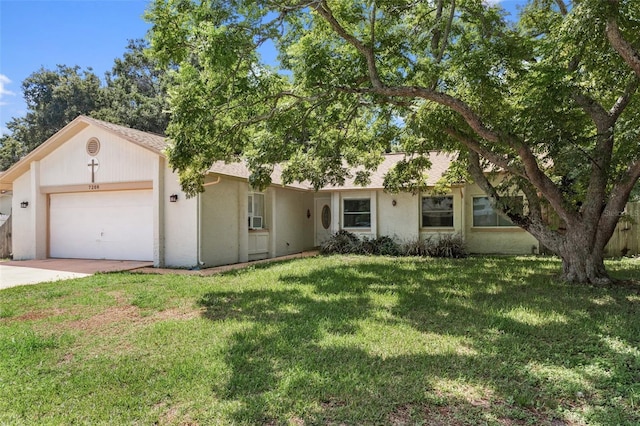
[[[0,424],[640,424],[640,284],[559,268],[324,257],[3,290]]]

